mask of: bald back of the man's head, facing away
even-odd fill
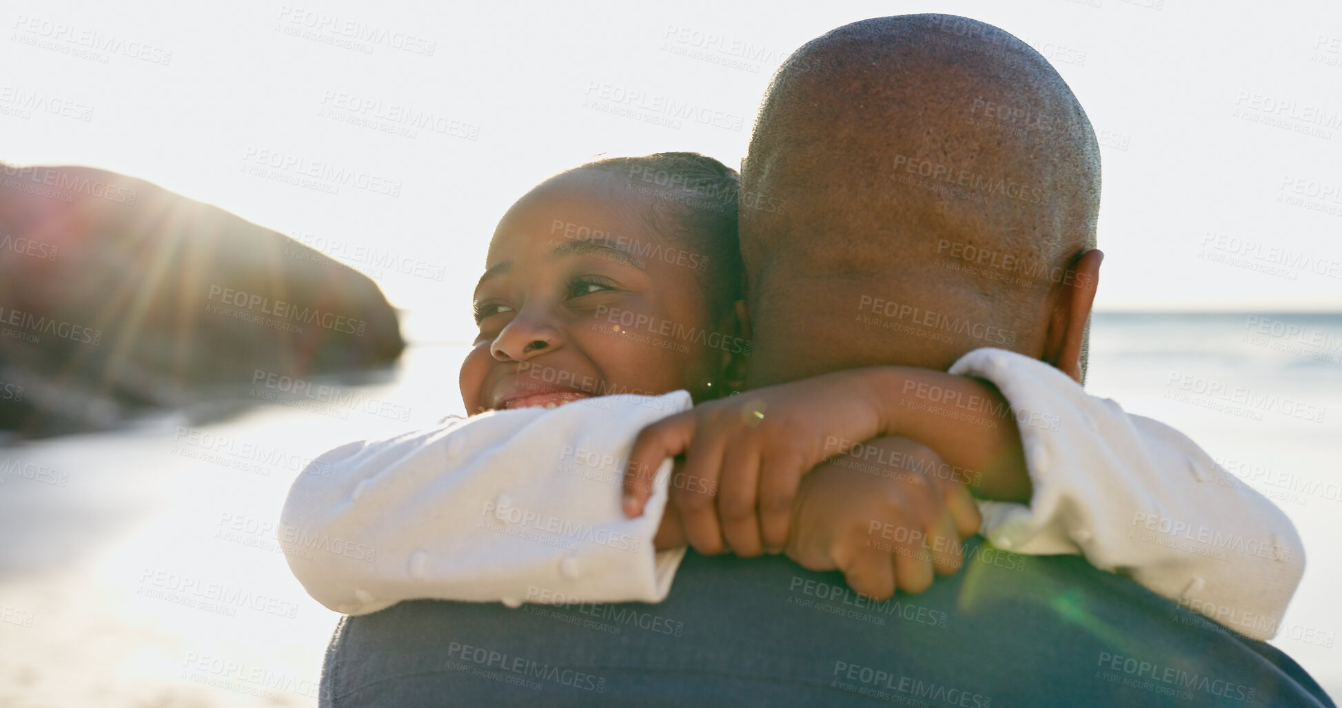
[[[1024,42],[903,15],[840,27],[782,64],[741,183],[753,383],[945,368],[989,345],[1043,357],[1067,267],[1095,246],[1099,148]],[[804,337],[841,353],[776,345]]]

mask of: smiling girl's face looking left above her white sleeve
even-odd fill
[[[678,388],[699,400],[722,388],[718,343],[735,332],[714,330],[695,270],[705,257],[644,224],[612,196],[621,185],[582,169],[503,215],[475,287],[479,336],[462,363],[470,415]]]

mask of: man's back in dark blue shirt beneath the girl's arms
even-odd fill
[[[1078,556],[966,547],[922,595],[690,554],[660,605],[346,618],[322,705],[1333,705],[1288,657]]]

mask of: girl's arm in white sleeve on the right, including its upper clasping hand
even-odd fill
[[[1002,500],[980,504],[981,533],[997,547],[1083,554],[1257,639],[1276,633],[1304,571],[1286,515],[1225,484],[1232,477],[1185,435],[1002,349],[973,351],[949,372],[824,373],[659,421],[631,453],[625,513],[639,512],[648,489],[639,470],[688,450],[683,474],[721,489],[717,500],[672,489],[690,544],[780,547],[801,477],[824,459],[870,454],[876,447],[863,441],[878,437],[931,447],[950,478],[977,480],[981,497]]]

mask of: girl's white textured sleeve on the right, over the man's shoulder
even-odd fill
[[[1032,493],[1028,506],[980,504],[994,545],[1079,552],[1240,634],[1276,634],[1304,551],[1271,501],[1186,435],[1126,414],[1043,361],[977,349],[950,372],[990,380],[1019,422]]]

